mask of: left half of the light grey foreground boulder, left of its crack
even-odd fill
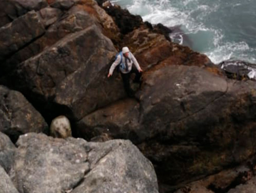
[[[17,141],[10,176],[21,193],[64,192],[76,186],[89,171],[83,146],[45,134],[25,134]]]

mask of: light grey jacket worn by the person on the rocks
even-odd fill
[[[136,58],[134,57],[134,55],[131,52],[129,52],[128,58],[130,58],[130,62],[129,62],[129,60],[127,60],[128,70],[126,71],[125,68],[121,68],[121,65],[120,65],[119,69],[120,69],[121,73],[124,73],[124,74],[129,73],[131,71],[132,64],[134,64],[138,70],[140,69],[139,63],[137,62]],[[118,64],[120,64],[120,61],[121,61],[121,55],[119,54],[117,56],[115,62],[113,62],[113,64],[109,68],[109,73],[111,75],[113,74],[113,71],[116,68],[116,66]],[[125,66],[125,56],[122,56],[121,64],[123,64]]]

